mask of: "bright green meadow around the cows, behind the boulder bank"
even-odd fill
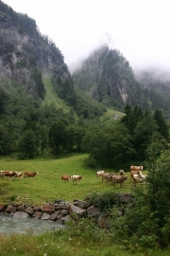
[[[130,192],[130,179],[125,182],[124,188],[115,187],[108,184],[106,180],[102,183],[101,177],[96,178],[98,170],[88,170],[83,167],[84,159],[87,155],[73,155],[67,158],[48,159],[40,158],[33,160],[18,160],[12,157],[0,158],[0,170],[22,172],[38,172],[33,178],[23,177],[0,178],[0,202],[7,203],[11,200],[16,203],[29,203],[42,205],[44,202],[52,202],[55,199],[73,201],[74,199],[84,199],[92,192]],[[118,170],[104,170],[115,173]],[[126,170],[125,170],[126,171]],[[80,184],[61,181],[62,174],[80,174],[82,180]],[[129,176],[129,171],[127,170]]]

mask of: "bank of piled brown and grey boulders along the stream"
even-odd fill
[[[129,193],[119,194],[121,203],[127,203],[131,200]],[[93,206],[90,201],[74,200],[73,203],[62,201],[61,199],[55,202],[47,203],[42,207],[37,205],[17,205],[17,204],[0,204],[0,212],[4,212],[13,218],[38,218],[42,220],[51,220],[56,224],[64,224],[71,218],[77,219],[80,217],[90,217],[96,220],[101,228],[102,212],[97,207]]]

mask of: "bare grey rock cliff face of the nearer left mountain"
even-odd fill
[[[26,22],[18,23],[21,17]],[[57,74],[69,78],[59,48],[39,32],[34,20],[16,13],[17,19],[0,12],[0,78],[8,77],[34,91],[35,69],[42,77]],[[21,29],[22,28],[22,29]]]

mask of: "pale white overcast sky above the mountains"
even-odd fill
[[[35,19],[69,68],[108,43],[134,70],[170,71],[170,0],[4,0]]]

